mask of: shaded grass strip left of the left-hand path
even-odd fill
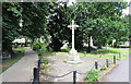
[[[2,72],[8,70],[11,65],[16,63],[22,57],[24,56],[25,49],[24,48],[14,48],[15,56],[12,56],[12,59],[4,59],[2,60]],[[21,52],[19,52],[21,51]],[[2,73],[0,72],[0,73]]]

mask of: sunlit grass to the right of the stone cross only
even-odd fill
[[[121,53],[121,60],[123,60],[127,56],[129,56],[129,49],[128,48],[111,48],[108,47],[108,49],[99,49],[99,51],[93,51],[87,53],[86,52],[86,57],[87,58],[99,58],[100,53],[102,53],[102,58],[108,58],[108,59],[114,59],[114,56],[117,56],[117,59],[119,59],[119,52]],[[79,52],[80,56],[84,57],[84,51],[83,52]]]

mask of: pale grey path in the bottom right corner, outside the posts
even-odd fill
[[[120,63],[109,74],[105,75],[104,82],[129,82],[129,57]]]

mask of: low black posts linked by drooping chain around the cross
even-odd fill
[[[120,55],[120,53],[119,53],[119,55]],[[119,57],[120,57],[120,56],[119,56]],[[120,57],[120,58],[121,58],[121,57]],[[99,70],[102,67],[107,67],[107,68],[109,68],[109,63],[110,63],[110,62],[111,62],[111,61],[110,61],[109,59],[106,59],[106,63],[102,65],[102,64],[98,64],[97,61],[95,61],[95,65],[94,65],[93,68],[91,68],[90,71],[92,71],[92,70],[94,70],[94,69]],[[114,56],[114,60],[112,60],[111,63],[116,64],[116,56]],[[32,84],[39,84],[39,71],[40,71],[40,60],[38,60],[37,68],[34,68],[34,76],[33,76],[33,80],[32,80],[32,81],[33,81]],[[76,73],[78,73],[78,74],[81,74],[81,75],[86,75],[86,74],[87,74],[87,72],[86,72],[86,73],[81,73],[81,72],[78,72],[78,71],[70,71],[70,72],[68,72],[68,73],[66,73],[66,74],[61,74],[61,75],[49,75],[49,74],[45,74],[45,73],[41,73],[41,74],[43,74],[43,75],[46,75],[46,76],[50,76],[50,77],[57,79],[57,77],[67,76],[67,75],[71,74],[71,73],[73,73],[73,84],[76,83]]]

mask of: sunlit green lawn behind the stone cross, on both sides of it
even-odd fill
[[[70,49],[58,51],[56,52],[56,56],[68,56],[69,50]],[[111,47],[108,47],[108,49],[103,48],[103,49],[99,49],[99,51],[94,50],[92,52],[86,52],[86,57],[87,58],[99,58],[102,53],[102,58],[114,59],[114,56],[117,56],[117,59],[119,59],[119,52],[121,53],[121,60],[123,60],[127,56],[129,56],[129,48],[111,48]],[[44,56],[53,56],[53,55],[55,52],[47,52]],[[79,55],[81,57],[85,57],[84,51],[79,52]]]

